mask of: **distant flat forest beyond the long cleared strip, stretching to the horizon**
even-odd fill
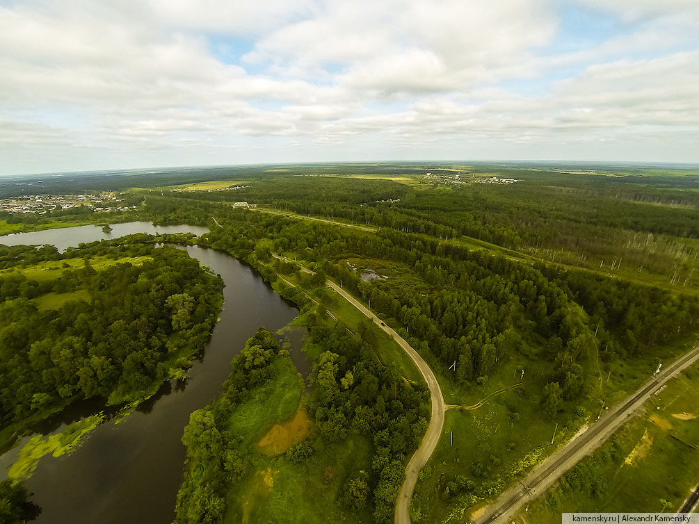
[[[463,184],[447,188],[424,185],[424,177],[401,183],[279,175],[237,191],[164,194],[189,202],[247,201],[440,239],[473,239],[584,268],[619,270],[623,262],[627,270],[699,286],[699,178],[668,176],[661,183],[650,176],[505,169],[498,176],[518,182],[476,183],[489,180],[484,176],[465,173]],[[416,181],[419,189],[410,184]]]

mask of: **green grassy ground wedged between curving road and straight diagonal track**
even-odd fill
[[[485,386],[474,386],[458,397],[445,395],[447,403],[473,407],[491,393],[508,388],[475,409],[453,407],[447,411],[440,442],[415,489],[421,522],[441,523],[454,516],[468,516],[477,502],[500,493],[519,472],[553,451],[555,422],[542,416],[539,405],[542,371],[534,362],[513,359]],[[568,427],[558,432],[559,439],[563,431],[571,432],[581,422],[567,420]],[[459,477],[473,485],[457,486],[456,490],[449,486],[450,482],[458,485]]]

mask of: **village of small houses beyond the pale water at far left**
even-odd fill
[[[135,205],[120,205],[123,200],[114,193],[92,195],[25,195],[0,200],[0,211],[8,213],[46,214],[70,208],[89,208],[95,212],[129,211]]]

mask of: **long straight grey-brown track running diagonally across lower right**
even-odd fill
[[[510,516],[528,500],[528,496],[540,495],[558,480],[563,473],[575,465],[582,457],[591,453],[596,447],[605,442],[621,425],[628,420],[651,395],[656,393],[672,377],[676,377],[686,367],[699,360],[699,347],[695,347],[688,354],[678,358],[665,371],[651,377],[636,393],[630,395],[619,407],[593,423],[586,431],[580,432],[563,448],[535,468],[527,476],[521,486],[507,490],[496,500],[491,507],[486,509],[484,516],[477,519],[475,524],[505,523]]]

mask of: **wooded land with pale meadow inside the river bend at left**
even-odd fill
[[[173,247],[0,246],[3,439],[73,400],[131,401],[182,376],[208,340],[221,288]]]

